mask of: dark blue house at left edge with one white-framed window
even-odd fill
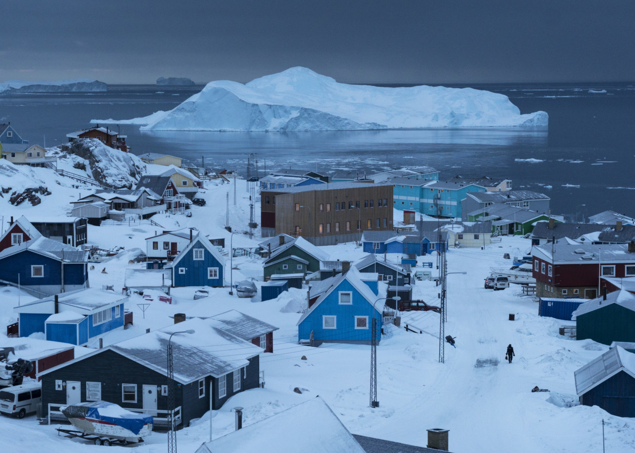
[[[88,252],[38,237],[0,252],[0,280],[20,284],[36,297],[83,289],[88,284]]]

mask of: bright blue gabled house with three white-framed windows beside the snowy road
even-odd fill
[[[377,341],[381,339],[382,308],[373,304],[377,294],[361,280],[359,271],[320,282],[327,286],[298,321],[298,341],[304,343],[313,333],[314,345],[321,343],[361,343],[371,341],[373,317],[377,320]]]

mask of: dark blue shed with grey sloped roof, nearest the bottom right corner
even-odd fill
[[[580,404],[618,417],[635,417],[635,354],[616,346],[575,371]]]

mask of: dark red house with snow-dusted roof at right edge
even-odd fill
[[[601,277],[635,276],[635,242],[629,244],[569,244],[534,246],[536,295],[549,298],[598,297]]]

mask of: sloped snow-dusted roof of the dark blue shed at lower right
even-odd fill
[[[620,371],[627,372],[635,379],[635,354],[615,346],[574,372],[578,397]]]

